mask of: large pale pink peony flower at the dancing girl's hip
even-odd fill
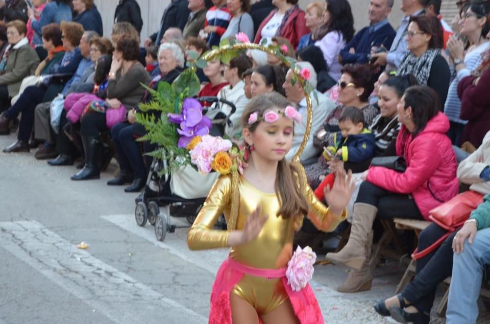
[[[286,270],[286,278],[293,291],[300,291],[306,287],[308,281],[313,277],[313,264],[316,259],[317,255],[309,246],[304,249],[299,246],[296,248]]]

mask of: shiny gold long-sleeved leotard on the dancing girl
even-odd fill
[[[224,212],[230,217],[231,176],[221,176],[209,192],[204,206],[189,231],[187,243],[192,250],[227,247],[229,231],[214,230],[216,221]],[[244,177],[239,176],[238,188],[240,203],[237,230],[245,226],[245,221],[260,204],[262,213],[269,215],[259,236],[244,245],[234,246],[230,257],[246,266],[261,269],[278,269],[287,266],[293,254],[293,235],[299,229],[303,217],[285,219],[277,217],[279,201],[275,194],[265,193],[255,188]],[[322,231],[333,231],[346,217],[332,216],[306,185],[304,196],[310,202],[308,218]],[[259,315],[267,314],[288,299],[281,279],[267,279],[245,274],[232,292],[249,302]]]

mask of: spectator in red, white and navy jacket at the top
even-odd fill
[[[204,35],[209,47],[220,45],[221,36],[228,28],[232,15],[226,6],[226,0],[212,0],[214,6],[206,12]]]

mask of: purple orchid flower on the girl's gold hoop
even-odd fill
[[[212,127],[211,119],[202,116],[202,106],[194,98],[186,98],[182,104],[182,114],[167,114],[169,121],[180,125],[177,132],[182,135],[178,141],[179,147],[186,147],[196,136],[209,134]]]

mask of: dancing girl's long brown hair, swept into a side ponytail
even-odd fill
[[[257,112],[258,116],[263,116],[270,109],[284,110],[288,105],[290,105],[288,100],[279,93],[258,95],[245,107],[245,112],[242,115],[242,126],[253,133],[263,121],[248,125],[248,118],[251,114]],[[275,193],[280,198],[277,216],[282,215],[284,218],[289,218],[308,213],[308,202],[303,195],[305,190],[303,181],[301,181],[302,172],[300,166],[295,163],[289,163],[286,159],[279,161],[275,181]]]

